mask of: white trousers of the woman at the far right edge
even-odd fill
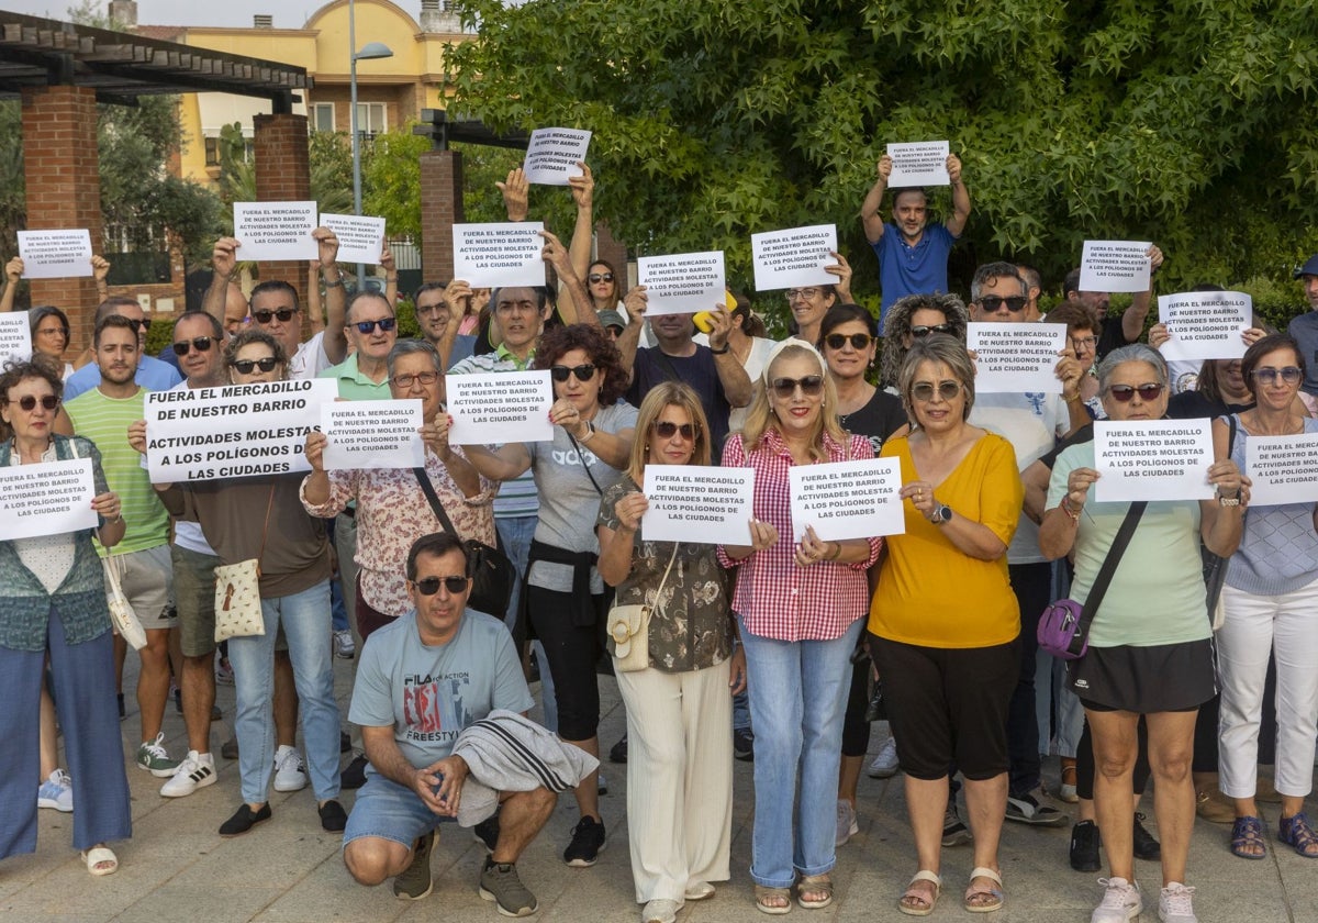
[[[1318,740],[1318,580],[1278,596],[1222,588],[1226,624],[1218,632],[1222,709],[1219,787],[1252,798],[1257,783],[1259,721],[1268,654],[1277,661],[1277,770],[1282,795],[1313,789]]]

